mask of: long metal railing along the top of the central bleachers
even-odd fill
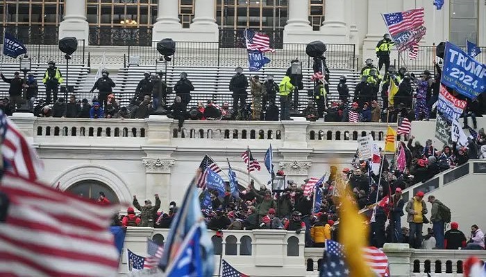
[[[156,42],[153,42],[155,45]],[[305,54],[307,44],[282,44],[275,53],[266,53],[271,67],[290,66],[295,58],[304,67],[312,67],[312,58]],[[327,64],[330,68],[353,69],[355,67],[355,44],[327,44]],[[156,64],[160,58],[156,47],[128,46],[128,64],[131,57],[140,58],[140,65]],[[133,62],[133,60],[132,60]],[[176,53],[169,63],[174,66],[247,66],[246,48],[225,48],[219,42],[177,42]]]

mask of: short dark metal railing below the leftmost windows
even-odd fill
[[[58,46],[58,29],[43,27],[43,30],[38,30],[36,27],[29,26],[8,26],[0,28],[1,37],[4,33],[10,33],[25,44],[27,48],[27,55],[31,57],[32,63],[42,64],[53,60],[54,62],[65,64],[65,54],[59,50]],[[44,33],[42,33],[44,32]],[[3,41],[0,42],[3,48]],[[18,59],[2,55],[1,62],[17,63]],[[78,50],[71,55],[70,64],[85,64],[87,59],[85,57],[85,40],[78,39]]]

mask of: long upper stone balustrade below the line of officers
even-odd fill
[[[34,144],[62,141],[84,144],[117,141],[126,144],[163,144],[178,147],[355,149],[358,137],[371,134],[382,145],[387,123],[310,123],[294,121],[186,120],[181,132],[176,121],[165,116],[146,119],[36,118],[16,113],[10,117]],[[323,143],[323,142],[326,143]],[[230,144],[228,144],[230,143]]]

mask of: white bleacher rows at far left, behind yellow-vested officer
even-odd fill
[[[64,78],[64,82],[62,82],[61,86],[66,85],[66,64],[56,64],[60,72],[62,73],[62,78]],[[42,85],[42,78],[44,78],[44,73],[47,69],[47,64],[32,64],[31,72],[34,74],[35,78],[37,79],[37,83],[39,84],[39,93],[37,94],[37,98],[45,98],[46,97],[46,89],[44,85]],[[1,69],[3,75],[6,78],[13,78],[13,74],[15,71],[19,71],[19,64],[2,64]],[[87,75],[90,73],[90,69],[83,64],[69,64],[69,86],[74,86],[74,93],[81,93],[83,90],[83,84],[87,78]],[[21,77],[24,78],[23,73],[21,72]],[[10,84],[1,81],[0,82],[0,97],[5,98],[8,97],[8,88]],[[64,97],[63,93],[58,94],[59,97]],[[79,97],[78,97],[79,98]]]

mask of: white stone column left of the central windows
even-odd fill
[[[219,29],[215,17],[216,0],[196,0],[194,19],[190,26],[191,39],[200,42],[218,42]]]

